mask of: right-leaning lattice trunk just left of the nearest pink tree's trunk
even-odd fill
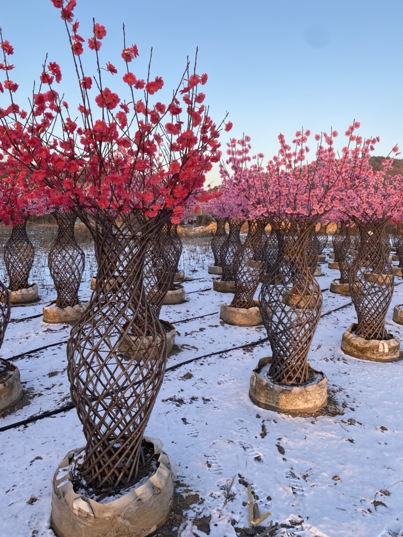
[[[231,302],[233,308],[253,307],[253,297],[265,270],[262,237],[266,224],[264,218],[251,220],[246,240],[235,253],[235,294]]]

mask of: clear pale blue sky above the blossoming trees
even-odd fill
[[[59,11],[50,0],[4,4],[0,25],[15,47],[17,102],[32,93],[46,53],[60,63],[60,90],[74,101],[77,82]],[[86,41],[92,17],[106,27],[102,61],[119,71],[104,74],[111,89],[124,74],[123,22],[127,44],[139,47],[134,74],[145,77],[153,46],[152,74],[165,88],[177,85],[186,56],[199,47],[197,71],[208,74],[203,91],[213,119],[228,111],[229,134],[249,134],[256,153],[276,154],[280,132],[288,140],[301,127],[344,133],[353,119],[364,136],[380,136],[376,155],[395,143],[403,149],[401,0],[77,0],[75,16]],[[87,50],[85,56],[91,59]],[[93,74],[95,64],[89,66]]]

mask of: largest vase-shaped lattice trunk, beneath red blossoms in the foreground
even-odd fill
[[[142,274],[149,242],[166,220],[76,211],[93,235],[99,268],[89,308],[68,340],[68,377],[87,440],[79,470],[90,487],[105,491],[136,480],[165,371],[165,332]]]

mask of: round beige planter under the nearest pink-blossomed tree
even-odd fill
[[[321,371],[308,366],[311,382],[287,386],[272,382],[267,370],[271,357],[261,358],[250,377],[249,397],[258,407],[294,415],[315,413],[327,405],[327,378]],[[264,375],[264,376],[263,376]]]

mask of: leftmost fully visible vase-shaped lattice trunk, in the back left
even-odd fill
[[[12,228],[11,236],[4,246],[4,263],[10,278],[10,291],[28,287],[35,249],[26,234],[27,221],[28,216],[25,216],[23,223],[17,223]]]

